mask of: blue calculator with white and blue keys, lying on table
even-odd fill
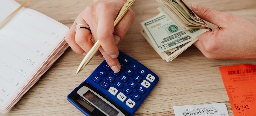
[[[132,116],[159,81],[137,60],[119,51],[121,70],[104,60],[67,100],[88,116]]]

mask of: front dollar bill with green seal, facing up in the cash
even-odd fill
[[[209,29],[181,29],[168,15],[157,16],[141,23],[157,52],[164,52],[183,45]]]

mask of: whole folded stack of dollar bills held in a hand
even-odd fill
[[[141,23],[142,36],[167,62],[172,61],[210,27],[183,0],[156,0],[160,13]]]

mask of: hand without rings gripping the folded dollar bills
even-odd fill
[[[209,59],[255,59],[256,23],[231,13],[219,12],[192,4],[200,18],[218,27],[197,38],[194,45]]]

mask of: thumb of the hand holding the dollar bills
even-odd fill
[[[225,22],[223,21],[223,19],[226,14],[223,12],[219,12],[219,11],[201,6],[197,3],[193,3],[191,8],[196,15],[198,15],[203,20],[208,21],[212,24],[215,24],[221,27],[221,24]]]

